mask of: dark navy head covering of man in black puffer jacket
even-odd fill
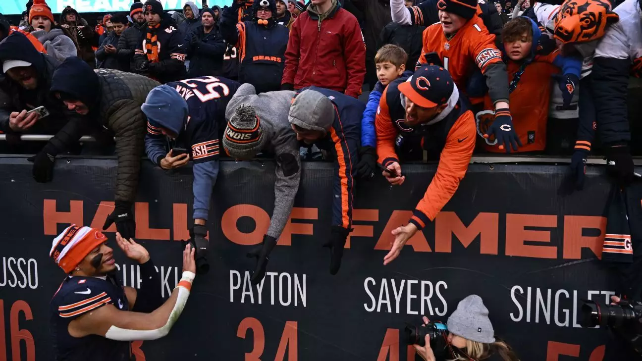
[[[56,67],[49,90],[59,92],[62,99],[80,100],[92,111],[99,103],[100,80],[85,60],[69,57]]]

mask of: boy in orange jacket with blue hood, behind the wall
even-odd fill
[[[516,17],[501,30],[504,62],[507,64],[510,113],[514,129],[522,143],[518,152],[542,151],[546,147],[546,121],[551,92],[551,76],[558,78],[559,87],[566,92],[568,101],[573,98],[578,84],[582,60],[562,57],[555,50],[547,55],[537,55],[541,31],[528,17]],[[562,75],[557,75],[559,69]],[[493,109],[490,96],[485,97],[484,109]],[[483,137],[494,121],[492,110],[476,114],[477,132]],[[502,152],[494,137],[483,138],[488,152]]]

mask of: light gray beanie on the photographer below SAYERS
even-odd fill
[[[488,318],[488,308],[482,297],[469,295],[459,302],[457,309],[448,317],[448,331],[471,341],[492,344],[495,331]]]

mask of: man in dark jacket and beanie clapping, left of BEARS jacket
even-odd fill
[[[203,9],[201,24],[202,26],[187,34],[184,40],[189,60],[187,76],[190,78],[221,75],[223,55],[227,50],[227,44],[223,40],[212,9]]]

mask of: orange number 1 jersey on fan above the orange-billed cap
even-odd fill
[[[451,39],[446,38],[440,23],[428,26],[424,30],[423,43],[424,48],[417,66],[426,64],[426,54],[437,53],[459,89],[466,89],[474,66],[485,73],[490,64],[502,62],[501,51],[495,46],[495,35],[488,32],[477,15],[466,22]]]

